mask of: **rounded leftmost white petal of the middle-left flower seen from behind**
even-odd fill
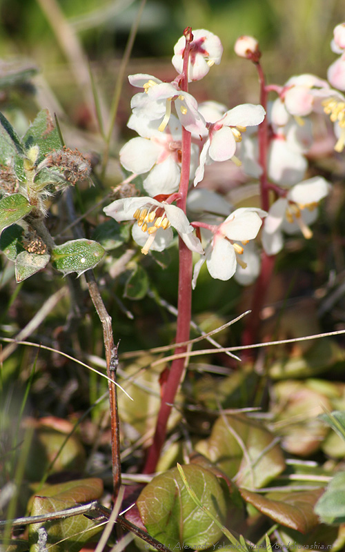
[[[146,138],[132,138],[120,150],[120,162],[127,170],[138,175],[148,172],[156,163],[161,146]]]

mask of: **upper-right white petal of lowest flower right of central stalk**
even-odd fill
[[[266,213],[265,213],[266,214]],[[262,219],[257,213],[250,210],[235,210],[218,228],[218,233],[228,237],[228,239],[246,242],[247,239],[257,237]]]

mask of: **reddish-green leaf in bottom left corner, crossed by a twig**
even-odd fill
[[[32,501],[30,515],[43,515],[68,509],[76,504],[97,500],[103,492],[100,479],[71,481],[61,486],[45,487]],[[44,495],[43,495],[44,492]],[[103,529],[103,524],[89,520],[85,515],[75,515],[50,522],[30,525],[30,552],[39,552],[39,530],[44,528],[47,535],[46,547],[50,552],[78,552],[93,535]],[[64,540],[64,539],[67,539]],[[61,542],[63,541],[63,542]]]

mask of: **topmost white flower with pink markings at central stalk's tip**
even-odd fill
[[[181,37],[174,46],[172,65],[181,75],[184,66],[184,49],[186,38]],[[223,46],[219,38],[209,30],[193,30],[193,41],[190,43],[188,61],[188,81],[199,81],[207,75],[210,67],[219,65]]]

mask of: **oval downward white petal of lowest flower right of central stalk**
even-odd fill
[[[208,272],[213,278],[228,280],[236,270],[236,254],[233,245],[227,239],[215,236],[213,250],[206,260]]]

